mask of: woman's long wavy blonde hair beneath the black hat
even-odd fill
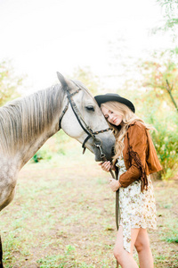
[[[120,129],[119,127],[109,123],[110,128],[113,129],[113,133],[116,138],[115,143],[115,155],[113,156],[113,163],[116,163],[117,158],[122,154],[122,151],[124,149],[124,138],[126,131],[128,130],[128,127],[131,123],[134,121],[140,121],[142,125],[146,128],[146,130],[155,130],[152,126],[149,124],[146,124],[142,119],[140,119],[135,113],[132,112],[132,110],[119,102],[110,101],[101,104],[101,107],[105,107],[109,109],[110,111],[116,113],[117,115],[121,115],[123,120],[120,123]]]

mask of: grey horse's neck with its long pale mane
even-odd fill
[[[14,125],[8,130],[10,138],[4,131],[4,151],[7,148],[10,156],[18,158],[20,168],[59,130],[63,94],[59,88],[48,89],[12,103],[11,110],[18,107],[21,112],[8,111],[6,130],[13,122]],[[17,130],[13,130],[14,126]]]

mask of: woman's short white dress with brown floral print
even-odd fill
[[[126,172],[123,157],[117,160],[119,176]],[[118,178],[119,180],[119,178]],[[141,191],[141,180],[119,188],[120,225],[123,227],[124,248],[131,252],[131,229],[157,228],[157,213],[153,185],[148,176],[148,190]]]

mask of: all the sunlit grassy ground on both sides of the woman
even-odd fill
[[[21,170],[16,196],[1,214],[5,268],[116,267],[109,174],[91,153],[81,151],[71,141],[65,155],[53,153],[52,159],[29,162]],[[155,267],[178,267],[178,183],[154,181],[154,187],[158,230],[150,230],[150,244]]]

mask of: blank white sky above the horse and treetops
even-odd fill
[[[115,90],[137,59],[171,46],[151,33],[162,20],[156,0],[0,0],[0,61],[26,76],[23,94],[86,67]]]

